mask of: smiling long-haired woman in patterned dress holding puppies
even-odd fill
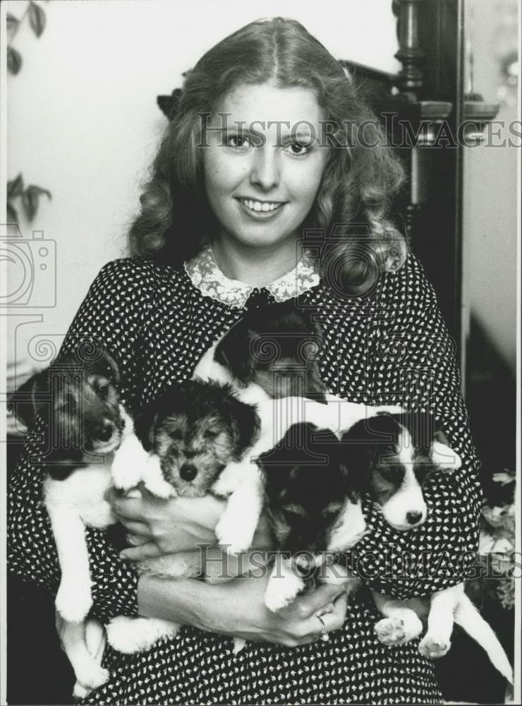
[[[371,149],[353,129],[367,119]],[[353,402],[433,412],[463,458],[459,472],[430,481],[429,517],[414,531],[394,532],[365,505],[370,532],[353,568],[366,585],[404,598],[461,580],[461,556],[475,550],[480,491],[435,294],[387,220],[401,170],[370,139],[379,138],[371,119],[338,62],[293,20],[251,23],[210,49],[188,74],[154,161],[130,231],[133,258],[102,268],[62,352],[78,340],[107,346],[134,411],[188,378],[248,307],[296,298],[317,311],[330,390]],[[40,489],[26,457],[11,488],[11,570],[56,591]],[[145,494],[114,498],[114,508],[141,545],[123,553],[135,559],[215,542],[221,504]],[[378,642],[379,616],[364,595],[347,604],[342,589],[320,587],[274,615],[263,603],[266,578],[138,579],[103,532],[88,534],[93,615],[141,614],[187,627],[144,654],[107,648],[111,678],[86,703],[441,699],[416,641]],[[266,541],[260,532],[257,544]],[[322,642],[314,613],[332,601],[323,616],[330,639]],[[231,636],[248,640],[237,656]]]

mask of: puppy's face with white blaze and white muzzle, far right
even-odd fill
[[[427,516],[423,496],[427,479],[441,467],[460,465],[427,414],[380,414],[364,419],[341,441],[346,464],[358,474],[360,486],[366,486],[395,530],[421,525]]]

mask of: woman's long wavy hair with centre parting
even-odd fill
[[[140,197],[141,213],[130,228],[130,252],[180,268],[212,239],[216,220],[198,148],[205,139],[202,115],[211,115],[239,85],[268,81],[277,88],[313,90],[334,126],[329,134],[334,147],[302,227],[322,234],[325,282],[334,276],[346,292],[357,294],[406,259],[406,240],[389,220],[403,170],[346,69],[303,25],[286,18],[245,25],[186,74]]]

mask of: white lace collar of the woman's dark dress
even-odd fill
[[[235,306],[238,309],[245,306],[246,300],[254,289],[260,289],[226,277],[219,269],[210,245],[185,263],[185,270],[193,285],[206,297],[217,299],[222,304]],[[265,289],[268,289],[276,301],[286,301],[286,299],[298,297],[319,282],[320,276],[315,261],[308,251],[305,251],[293,270],[265,285]]]

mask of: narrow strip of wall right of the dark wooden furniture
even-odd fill
[[[518,7],[517,0],[466,0],[466,38],[473,50],[473,90],[487,102],[499,102],[502,97],[498,93],[504,83],[500,64],[509,48],[518,46]],[[501,102],[496,117],[505,126],[517,119],[515,90],[508,100]],[[496,126],[494,130],[498,136],[486,140],[489,144],[464,150],[463,318],[480,328],[480,335],[514,376],[520,150],[499,146],[509,136],[506,127]]]

